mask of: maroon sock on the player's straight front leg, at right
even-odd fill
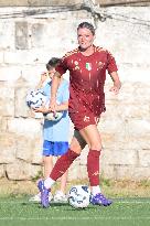
[[[92,149],[87,155],[87,172],[90,186],[99,185],[99,157],[100,151]]]

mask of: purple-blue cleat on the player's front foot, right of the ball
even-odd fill
[[[106,198],[101,193],[98,193],[95,196],[90,197],[90,203],[93,205],[108,206],[113,203],[113,201]]]

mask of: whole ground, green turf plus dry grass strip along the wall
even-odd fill
[[[38,192],[35,182],[1,180],[0,226],[150,226],[149,181],[103,180],[103,191],[113,197],[109,207],[89,205],[74,209],[68,204],[52,204],[45,209],[29,202]]]

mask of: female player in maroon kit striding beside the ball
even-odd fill
[[[86,144],[89,147],[87,172],[92,187],[90,202],[94,205],[108,206],[111,201],[106,198],[99,187],[99,157],[101,139],[97,129],[100,114],[105,111],[104,85],[108,71],[113,87],[110,92],[118,94],[121,83],[117,74],[114,56],[103,47],[95,46],[95,29],[93,24],[83,22],[77,28],[79,46],[66,53],[53,77],[50,109],[56,109],[56,92],[61,76],[69,71],[69,105],[68,114],[74,123],[75,132],[68,151],[54,165],[50,177],[40,181],[41,203],[49,207],[49,191],[61,177],[73,161],[81,154]]]

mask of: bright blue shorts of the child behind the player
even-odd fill
[[[68,150],[68,142],[64,141],[49,141],[44,140],[43,142],[43,155],[44,157],[58,157],[66,153]]]

